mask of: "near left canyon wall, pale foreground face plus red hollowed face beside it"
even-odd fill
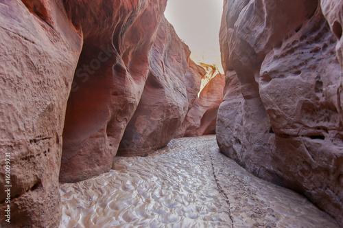
[[[10,158],[11,168],[8,183],[0,172],[2,227],[8,205],[12,227],[58,227],[58,179],[111,168],[141,98],[165,6],[1,1],[0,166]]]

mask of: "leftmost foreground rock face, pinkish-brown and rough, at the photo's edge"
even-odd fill
[[[1,1],[0,23],[0,227],[58,227],[62,130],[82,33],[62,1]]]

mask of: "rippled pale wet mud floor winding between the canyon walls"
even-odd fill
[[[60,227],[338,227],[305,196],[219,152],[215,135],[173,139],[148,157],[60,185]]]

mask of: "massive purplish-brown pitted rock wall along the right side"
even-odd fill
[[[226,87],[217,142],[250,172],[305,194],[343,225],[342,68],[335,52],[342,8],[333,13],[327,2],[333,32],[318,1],[224,2]]]

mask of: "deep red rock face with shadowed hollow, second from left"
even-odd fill
[[[67,1],[84,45],[68,100],[61,182],[108,171],[144,89],[166,1]]]

